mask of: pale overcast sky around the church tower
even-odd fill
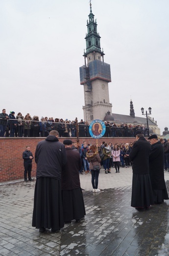
[[[169,0],[92,0],[112,113],[141,107],[169,128]],[[0,0],[0,108],[83,119],[79,67],[89,0]],[[0,112],[1,112],[0,109]]]

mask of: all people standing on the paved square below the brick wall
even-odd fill
[[[158,140],[156,134],[144,137],[142,129],[136,130],[134,143],[112,145],[105,141],[101,146],[58,140],[59,132],[51,130],[45,140],[38,143],[35,151],[37,163],[36,185],[32,226],[45,232],[60,230],[65,223],[80,222],[85,216],[85,206],[79,174],[91,172],[93,192],[98,189],[101,164],[105,174],[116,173],[121,167],[132,165],[131,206],[137,210],[149,209],[169,199],[164,180],[164,170],[169,168],[169,141]],[[30,146],[23,153],[24,181],[32,181],[33,155]],[[28,174],[28,180],[27,180]]]

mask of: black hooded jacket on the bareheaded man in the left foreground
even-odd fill
[[[35,151],[36,178],[50,177],[60,180],[63,166],[67,163],[65,145],[54,135],[40,141]]]

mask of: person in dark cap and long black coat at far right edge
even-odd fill
[[[154,195],[154,203],[161,204],[169,199],[164,180],[164,148],[156,134],[149,136],[151,144],[149,155],[149,175]]]

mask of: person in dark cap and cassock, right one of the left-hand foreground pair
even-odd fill
[[[79,170],[82,167],[80,154],[72,150],[72,140],[63,141],[66,149],[67,163],[62,171],[62,203],[65,223],[72,220],[80,222],[86,215],[83,193],[80,187]]]

